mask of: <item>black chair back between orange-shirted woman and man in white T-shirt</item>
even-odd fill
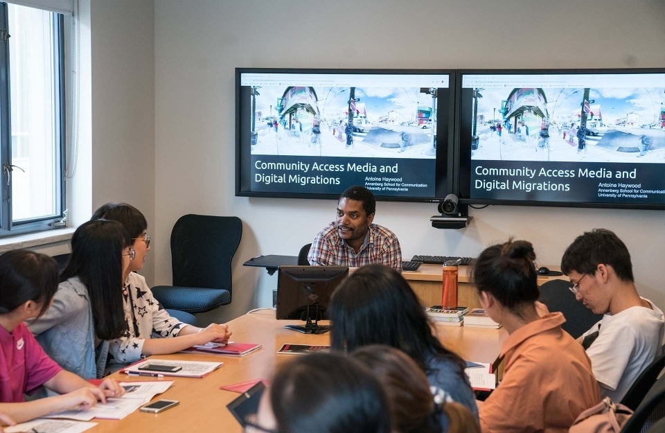
[[[591,328],[603,315],[594,313],[575,299],[569,290],[570,283],[565,280],[550,280],[540,285],[540,302],[551,312],[560,311],[566,318],[561,327],[573,338],[577,338]]]

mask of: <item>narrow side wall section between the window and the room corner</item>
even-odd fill
[[[154,4],[80,0],[90,6],[91,202],[127,202],[154,221]],[[84,140],[85,137],[82,137]],[[90,186],[88,186],[90,188]],[[148,227],[151,230],[152,227]],[[152,281],[154,261],[143,273]]]

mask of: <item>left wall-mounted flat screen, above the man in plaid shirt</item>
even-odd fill
[[[438,201],[453,71],[236,69],[236,195]],[[449,146],[448,143],[451,143]]]

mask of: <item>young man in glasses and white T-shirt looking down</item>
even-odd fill
[[[578,340],[585,346],[601,394],[621,401],[637,376],[662,351],[663,312],[639,296],[626,245],[607,229],[578,236],[561,259],[571,292],[603,314]]]

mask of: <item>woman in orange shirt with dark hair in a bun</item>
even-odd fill
[[[503,380],[479,402],[483,433],[567,433],[601,400],[589,357],[561,328],[563,315],[536,311],[533,260],[530,242],[508,240],[485,249],[472,272],[481,306],[510,334],[500,353]]]

